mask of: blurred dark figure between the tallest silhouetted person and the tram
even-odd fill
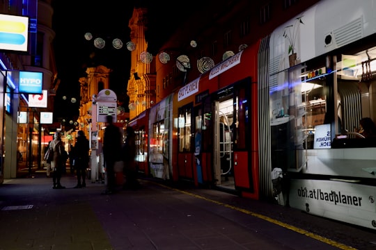
[[[136,157],[136,138],[131,126],[127,127],[127,138],[125,138],[121,155],[124,162],[123,174],[125,176],[123,189],[130,188],[131,190],[136,190],[140,188],[140,184],[137,181],[137,169],[134,162],[134,158]]]

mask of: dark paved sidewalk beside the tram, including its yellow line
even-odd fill
[[[0,249],[376,249],[373,231],[217,190],[143,179],[101,195],[102,183],[74,189],[70,174],[62,184],[39,174],[0,186]]]

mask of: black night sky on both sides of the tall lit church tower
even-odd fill
[[[86,76],[87,67],[104,65],[113,70],[110,74],[110,88],[119,97],[126,96],[127,81],[130,78],[130,53],[126,43],[130,41],[128,23],[134,6],[148,8],[148,51],[155,53],[166,42],[169,34],[180,22],[199,6],[193,0],[182,6],[180,1],[122,1],[122,0],[54,0],[52,28],[56,32],[54,50],[58,78],[61,85],[55,97],[54,117],[78,117],[79,78]],[[174,22],[171,22],[171,19]],[[93,34],[93,39],[84,38],[85,33]],[[104,49],[93,45],[95,38],[106,40]],[[113,38],[123,41],[122,49],[112,47]],[[62,97],[77,98],[77,103],[63,101]],[[127,103],[125,103],[127,108]],[[63,107],[63,108],[61,108]],[[73,112],[72,112],[73,111]],[[70,118],[68,118],[70,119]]]

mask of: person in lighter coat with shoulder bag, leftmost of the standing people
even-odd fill
[[[61,185],[61,176],[63,174],[63,169],[65,168],[64,156],[63,151],[64,145],[61,141],[61,133],[55,132],[54,140],[52,140],[50,147],[54,152],[54,158],[51,161],[51,169],[52,169],[52,181],[54,185],[52,188],[54,189],[63,189],[64,186]]]

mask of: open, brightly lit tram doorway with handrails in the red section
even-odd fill
[[[233,96],[214,101],[214,176],[216,184],[235,189],[233,129],[236,124]]]

